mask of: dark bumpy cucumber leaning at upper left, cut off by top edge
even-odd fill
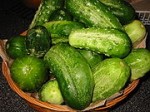
[[[63,0],[42,0],[29,26],[29,29],[36,25],[42,25],[45,22],[48,22],[52,13],[63,7],[63,2]]]

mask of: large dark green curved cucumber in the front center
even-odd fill
[[[77,49],[58,43],[46,53],[44,60],[56,76],[66,103],[84,109],[92,100],[94,79],[89,64]]]

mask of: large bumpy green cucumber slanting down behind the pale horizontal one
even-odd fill
[[[67,0],[66,9],[87,27],[122,29],[118,18],[99,0]]]

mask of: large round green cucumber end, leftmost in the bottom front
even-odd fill
[[[14,60],[10,72],[14,82],[27,92],[38,91],[48,78],[45,62],[33,56]]]

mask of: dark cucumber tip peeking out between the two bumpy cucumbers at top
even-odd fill
[[[50,16],[49,21],[72,21],[72,19],[72,15],[66,9],[62,8],[54,11],[53,14]]]

